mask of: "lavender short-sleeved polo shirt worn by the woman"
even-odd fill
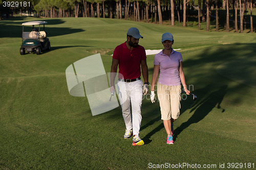
[[[158,83],[167,86],[180,85],[180,61],[182,61],[181,54],[174,50],[170,54],[170,57],[163,54],[163,50],[160,53],[156,54],[154,59],[154,65],[160,65]]]

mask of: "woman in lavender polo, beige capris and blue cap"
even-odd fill
[[[157,95],[160,103],[161,119],[167,132],[167,144],[173,144],[173,122],[180,115],[181,84],[186,94],[190,91],[186,88],[185,76],[182,68],[182,56],[173,50],[173,35],[162,35],[164,49],[155,55],[154,72],[152,77],[151,101],[155,102],[155,85],[157,83]]]

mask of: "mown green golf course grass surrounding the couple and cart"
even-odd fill
[[[49,23],[50,52],[19,54],[21,24],[31,20]],[[110,72],[110,54],[131,27],[140,30],[146,50],[163,48],[165,32],[174,35],[173,48],[181,48],[186,83],[198,99],[190,95],[181,102],[173,145],[166,144],[159,103],[152,104],[150,94],[142,103],[140,147],[123,139],[120,107],[92,116],[86,97],[69,94],[66,68],[100,53]],[[0,169],[171,169],[183,163],[183,169],[256,168],[255,33],[31,17],[1,20],[0,30]],[[153,61],[148,55],[150,83]]]

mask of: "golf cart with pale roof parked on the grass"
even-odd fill
[[[20,47],[20,55],[24,55],[25,52],[36,52],[37,55],[41,54],[42,50],[51,50],[49,38],[46,37],[45,24],[46,21],[30,21],[24,22],[22,30],[22,47]],[[39,25],[39,30],[34,28],[35,25]],[[40,25],[44,25],[44,31],[40,31]],[[24,32],[24,26],[33,26],[31,32]]]

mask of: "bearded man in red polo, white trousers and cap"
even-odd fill
[[[122,115],[126,127],[124,139],[133,137],[133,145],[142,145],[144,141],[139,137],[141,125],[141,104],[143,94],[148,92],[148,69],[146,64],[146,52],[139,45],[139,39],[143,38],[137,28],[127,31],[127,41],[115,48],[111,66],[111,87],[115,89],[115,77],[118,72],[118,96],[122,107]],[[140,67],[141,66],[141,67]],[[141,81],[141,71],[144,85]],[[132,109],[131,109],[132,108]],[[132,114],[131,114],[132,110]]]

